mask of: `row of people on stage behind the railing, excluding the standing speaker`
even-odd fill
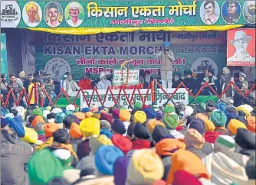
[[[147,89],[150,82],[153,80],[157,80],[159,84],[162,84],[160,73],[161,71],[159,70],[159,75],[151,76],[149,70],[140,70],[138,87],[141,89]],[[199,92],[199,89],[205,83],[208,83],[212,88],[205,86],[205,88],[202,89],[202,92],[199,93],[200,96],[215,96],[215,92],[220,95],[228,87],[229,83],[233,82],[238,87],[238,89],[240,89],[240,92],[238,89],[235,89],[234,86],[231,86],[227,91],[225,91],[222,98],[234,99],[235,105],[237,106],[241,105],[242,102],[241,93],[246,94],[248,90],[251,89],[251,87],[254,85],[253,81],[246,81],[245,73],[235,73],[234,76],[231,76],[231,72],[227,67],[223,68],[222,74],[218,77],[215,76],[215,72],[213,70],[206,70],[205,72],[198,74],[192,73],[190,70],[185,70],[184,75],[175,72],[172,74],[172,76],[172,83],[169,83],[172,88],[177,88],[179,84],[183,82],[189,91],[194,95]],[[1,96],[3,101],[6,101],[9,89],[13,90],[15,99],[18,99],[18,94],[21,92],[21,88],[24,87],[28,97],[32,93],[30,101],[31,105],[34,105],[34,93],[32,90],[34,83],[38,83],[38,87],[44,88],[51,99],[56,98],[56,94],[59,93],[62,88],[67,92],[67,96],[75,97],[77,96],[79,89],[87,90],[93,89],[94,87],[97,87],[97,89],[107,89],[108,86],[113,85],[113,74],[111,74],[109,71],[101,72],[99,78],[95,80],[90,79],[90,73],[85,73],[79,81],[73,80],[71,73],[64,73],[64,76],[60,82],[60,88],[56,88],[56,86],[54,86],[54,80],[47,72],[44,72],[43,75],[40,75],[39,73],[29,73],[28,78],[24,71],[21,71],[21,73],[18,74],[18,78],[15,77],[15,74],[10,74],[8,76],[8,83],[6,77],[6,74],[1,74]],[[40,86],[40,84],[43,84],[43,86]],[[183,86],[181,86],[181,88],[183,88]],[[214,91],[212,91],[212,89]],[[38,94],[44,98],[44,106],[51,105],[48,96],[42,89],[38,92]],[[15,106],[15,99],[12,95],[9,96],[9,109]],[[24,108],[27,108],[25,97],[21,99],[21,105]]]

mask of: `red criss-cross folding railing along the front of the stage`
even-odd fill
[[[103,97],[103,99],[100,98],[100,94],[97,90],[96,87],[94,87],[93,89],[93,92],[92,94],[90,95],[90,97],[87,97],[84,93],[84,90],[82,89],[79,89],[77,91],[77,95],[74,96],[74,100],[71,102],[71,99],[70,97],[68,96],[67,92],[62,88],[61,91],[58,93],[56,99],[53,100],[51,99],[51,96],[48,94],[47,90],[44,89],[44,86],[41,84],[39,86],[39,89],[38,89],[38,83],[34,83],[34,86],[32,87],[31,89],[31,93],[29,95],[27,95],[26,91],[24,88],[21,89],[21,92],[18,93],[18,95],[15,96],[15,93],[13,92],[12,89],[9,89],[8,91],[8,94],[7,94],[7,97],[6,99],[4,100],[1,96],[1,103],[2,103],[2,106],[6,108],[6,106],[8,105],[8,102],[9,102],[9,99],[10,99],[10,96],[12,97],[11,101],[12,102],[15,102],[15,105],[18,106],[21,104],[21,99],[25,99],[25,103],[26,105],[30,105],[31,104],[31,99],[34,98],[34,104],[35,105],[40,105],[41,107],[44,106],[44,99],[48,99],[48,102],[49,102],[49,105],[51,106],[55,106],[57,104],[57,101],[58,99],[61,98],[61,95],[64,95],[64,97],[67,99],[67,102],[69,104],[73,104],[75,106],[78,106],[75,104],[76,100],[78,99],[78,97],[80,96],[80,93],[82,93],[82,96],[84,98],[84,101],[86,102],[86,104],[88,106],[91,105],[92,101],[93,101],[93,97],[94,97],[94,94],[97,95],[99,101],[100,101],[100,105],[104,105],[105,102],[106,102],[106,99],[107,99],[107,95],[110,93],[110,96],[114,102],[114,104],[118,104],[118,102],[120,102],[120,95],[121,93],[123,92],[124,96],[126,97],[126,101],[128,102],[129,105],[133,105],[133,102],[134,102],[134,95],[136,94],[136,92],[138,92],[137,94],[139,94],[139,100],[140,102],[143,103],[143,105],[145,105],[145,102],[146,102],[146,98],[147,96],[149,95],[149,91],[151,91],[151,95],[152,95],[152,104],[153,105],[157,105],[157,99],[156,99],[156,94],[157,94],[157,88],[159,89],[162,89],[162,92],[164,92],[166,94],[166,97],[168,98],[167,102],[168,103],[169,101],[171,101],[172,103],[173,100],[172,100],[172,97],[176,94],[176,92],[178,91],[178,89],[180,88],[185,88],[185,90],[189,93],[189,96],[192,97],[192,101],[189,102],[189,105],[192,104],[192,102],[196,102],[197,104],[200,105],[200,107],[203,109],[201,103],[196,99],[197,96],[200,96],[200,93],[202,92],[203,89],[205,88],[209,88],[211,90],[211,92],[213,93],[214,96],[217,96],[217,101],[220,100],[220,101],[224,101],[224,99],[222,99],[222,96],[224,96],[225,92],[228,91],[228,89],[232,89],[232,90],[235,90],[236,92],[238,92],[238,94],[240,94],[241,96],[243,97],[248,97],[248,95],[250,94],[251,91],[253,91],[253,89],[256,88],[256,83],[254,83],[254,85],[251,87],[251,89],[248,89],[247,92],[241,92],[241,90],[238,88],[238,86],[235,85],[235,83],[231,82],[228,84],[228,86],[224,89],[224,91],[218,95],[217,92],[215,92],[214,89],[212,89],[212,86],[210,86],[208,83],[204,83],[201,88],[199,89],[198,92],[195,93],[195,95],[192,94],[192,91],[188,89],[187,86],[185,86],[185,84],[182,82],[179,84],[179,86],[177,86],[177,88],[174,90],[174,92],[172,93],[168,93],[166,92],[165,89],[162,88],[162,86],[156,81],[152,81],[148,88],[147,88],[147,91],[146,91],[146,95],[143,96],[140,92],[140,86],[139,85],[136,85],[136,86],[133,86],[133,93],[131,94],[130,96],[130,99],[126,93],[126,89],[124,88],[124,86],[120,86],[120,89],[119,89],[119,93],[118,93],[118,96],[117,96],[117,99],[114,97],[113,95],[113,91],[111,89],[111,87],[109,86],[107,88],[107,91],[106,91],[106,94],[105,96]],[[86,90],[85,90],[86,91]],[[34,97],[33,97],[34,96]],[[39,102],[40,100],[40,102]],[[24,102],[24,101],[23,101]],[[215,103],[216,103],[215,102]],[[164,105],[166,104],[164,103]]]

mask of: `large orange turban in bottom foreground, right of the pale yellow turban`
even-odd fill
[[[174,174],[178,170],[185,170],[189,174],[210,180],[210,175],[202,160],[191,151],[178,150],[172,155],[172,167],[169,170],[166,184],[173,182]]]

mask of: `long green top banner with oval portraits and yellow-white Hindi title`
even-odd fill
[[[2,28],[145,28],[254,24],[251,1],[1,1]],[[255,4],[254,4],[255,5]]]

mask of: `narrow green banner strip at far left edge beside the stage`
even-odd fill
[[[8,73],[7,51],[6,51],[6,35],[1,34],[1,74]]]

